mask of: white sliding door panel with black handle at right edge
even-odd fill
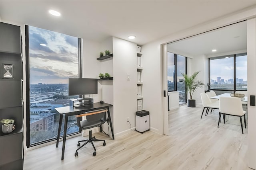
[[[256,95],[256,18],[247,21],[247,79],[248,79],[248,159],[256,169],[256,107],[250,106],[250,95]]]

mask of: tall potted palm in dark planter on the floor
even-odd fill
[[[188,107],[196,107],[196,100],[192,99],[192,96],[197,88],[202,88],[204,85],[202,80],[196,80],[196,76],[199,72],[200,71],[194,72],[191,76],[182,73],[182,76],[184,77],[183,81],[185,82],[186,92],[188,92],[190,95],[190,99],[187,100]]]

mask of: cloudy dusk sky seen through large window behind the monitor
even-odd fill
[[[78,77],[77,37],[29,26],[29,55],[30,84],[64,84]]]

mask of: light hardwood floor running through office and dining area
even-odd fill
[[[247,129],[242,134],[240,119],[228,117],[218,128],[218,110],[202,117],[202,106],[181,106],[169,112],[170,136],[151,131],[136,131],[110,139],[106,146],[96,142],[97,155],[87,145],[74,156],[77,141],[66,141],[64,160],[62,142],[28,151],[24,170],[251,170],[247,166]]]

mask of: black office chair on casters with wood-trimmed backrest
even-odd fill
[[[93,156],[96,156],[96,149],[92,143],[93,141],[104,141],[103,146],[106,145],[105,140],[95,139],[95,136],[92,137],[91,128],[98,127],[98,126],[100,126],[101,128],[101,125],[106,122],[107,111],[108,109],[104,109],[104,110],[86,112],[81,115],[76,115],[76,119],[77,119],[76,125],[82,130],[90,129],[90,131],[89,131],[89,139],[78,141],[77,147],[79,148],[76,150],[75,156],[78,156],[78,150],[81,149],[87,143],[91,143],[92,147],[94,148]],[[86,116],[86,120],[81,121],[82,116]],[[80,142],[85,142],[85,143],[82,146],[80,146]]]

